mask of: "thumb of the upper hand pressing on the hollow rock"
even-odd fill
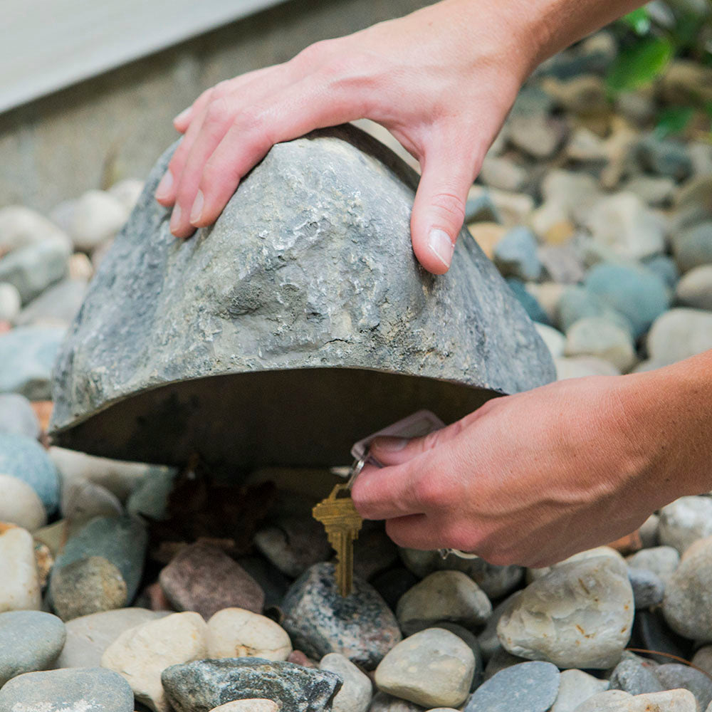
[[[444,274],[450,268],[465,219],[467,193],[476,174],[473,163],[471,154],[462,147],[440,147],[421,160],[422,176],[410,229],[415,256],[433,274]]]

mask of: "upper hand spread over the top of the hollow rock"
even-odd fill
[[[365,117],[419,160],[413,248],[446,272],[468,189],[535,61],[527,5],[446,0],[207,90],[174,120],[184,138],[156,192],[174,205],[172,232],[213,223],[273,144]]]

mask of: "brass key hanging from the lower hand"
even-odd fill
[[[324,525],[329,543],[336,552],[336,583],[346,597],[351,593],[354,577],[354,540],[358,538],[363,520],[348,496],[349,484],[337,484],[331,494],[318,503],[312,515]],[[339,497],[340,493],[347,493]]]

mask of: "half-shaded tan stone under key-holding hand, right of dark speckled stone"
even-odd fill
[[[477,626],[485,623],[491,613],[488,597],[461,571],[431,573],[404,593],[396,608],[396,617],[406,634],[441,620]]]

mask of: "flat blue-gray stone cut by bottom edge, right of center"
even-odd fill
[[[513,665],[481,684],[464,712],[546,712],[556,700],[560,677],[550,663]]]

